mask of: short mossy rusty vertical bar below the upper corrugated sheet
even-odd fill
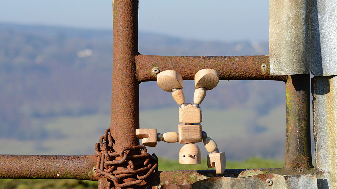
[[[310,146],[310,75],[290,75],[286,87],[286,144],[287,169],[311,169]]]

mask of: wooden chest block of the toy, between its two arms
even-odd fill
[[[202,142],[201,125],[178,124],[179,143]]]

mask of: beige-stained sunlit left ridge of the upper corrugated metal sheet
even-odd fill
[[[271,75],[309,74],[306,63],[307,0],[269,1]]]

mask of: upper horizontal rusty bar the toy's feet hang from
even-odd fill
[[[137,55],[136,78],[139,82],[156,81],[153,67],[161,71],[176,70],[184,80],[194,80],[203,68],[219,72],[220,80],[275,80],[286,82],[286,76],[271,76],[269,56],[154,56]]]

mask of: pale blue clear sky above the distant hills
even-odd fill
[[[140,0],[139,31],[197,40],[268,41],[267,0]],[[0,0],[0,22],[112,29],[112,0]]]

